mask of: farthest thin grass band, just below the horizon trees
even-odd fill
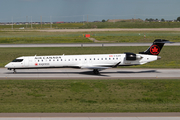
[[[24,27],[31,29],[29,25],[13,25],[14,29]],[[62,23],[52,24],[52,29],[78,29],[78,28],[179,28],[180,22],[89,22],[89,23]],[[50,24],[32,25],[32,29],[50,29]],[[12,25],[0,25],[0,29],[12,29]]]

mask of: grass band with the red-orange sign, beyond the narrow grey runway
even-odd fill
[[[179,32],[38,32],[38,31],[1,31],[0,44],[29,44],[29,43],[92,43],[85,34],[101,42],[153,42],[155,39],[167,39],[180,42]],[[144,38],[144,34],[146,38]]]

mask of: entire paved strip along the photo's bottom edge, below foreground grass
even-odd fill
[[[179,120],[180,113],[0,113],[0,120]]]

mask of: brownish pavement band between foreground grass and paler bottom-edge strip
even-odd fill
[[[180,117],[180,112],[147,113],[0,113],[1,117]]]

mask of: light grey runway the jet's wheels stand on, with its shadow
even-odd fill
[[[0,68],[0,79],[180,79],[180,69],[113,68],[94,75],[88,69],[20,69],[13,74]]]

